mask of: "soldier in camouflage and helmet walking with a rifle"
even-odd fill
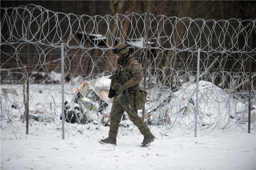
[[[150,132],[148,126],[145,124],[143,119],[138,116],[138,109],[142,109],[145,106],[147,93],[140,89],[140,81],[142,80],[142,71],[140,64],[136,59],[128,53],[129,48],[126,44],[117,44],[113,49],[113,53],[116,54],[117,67],[115,74],[118,83],[122,85],[119,90],[113,90],[116,86],[113,79],[110,84],[110,90],[108,97],[117,97],[118,94],[123,94],[125,89],[129,90],[129,99],[131,101],[130,109],[125,103],[124,98],[120,100],[113,100],[113,105],[110,112],[110,128],[108,132],[108,138],[100,139],[99,142],[102,144],[110,143],[116,145],[116,136],[119,128],[124,111],[128,114],[130,120],[139,128],[140,133],[144,136],[144,140],[141,143],[141,147],[147,147],[151,142],[154,141],[155,136]]]

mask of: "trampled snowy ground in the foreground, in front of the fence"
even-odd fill
[[[151,128],[158,139],[141,148],[143,136],[127,128],[119,128],[113,146],[98,142],[108,127],[85,127],[82,133],[69,128],[62,140],[61,130],[47,134],[49,124],[36,135],[25,135],[24,126],[17,125],[1,123],[1,169],[256,169],[255,129],[251,134],[215,131],[195,138],[194,133],[171,137]]]

